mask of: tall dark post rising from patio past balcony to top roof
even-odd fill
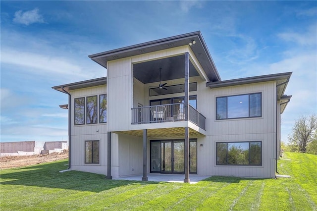
[[[185,53],[185,96],[184,96],[184,112],[185,112],[185,121],[188,121],[189,114],[189,53]],[[184,182],[190,182],[189,179],[189,128],[185,127],[185,146],[184,146],[184,170],[185,178]]]

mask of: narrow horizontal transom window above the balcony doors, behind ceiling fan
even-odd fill
[[[167,95],[174,93],[185,92],[185,84],[177,84],[172,86],[164,86],[165,89],[152,88],[150,89],[150,96]],[[189,83],[189,91],[197,91],[197,82]]]

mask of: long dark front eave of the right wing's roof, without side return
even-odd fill
[[[220,88],[220,87],[228,87],[228,86],[237,86],[243,84],[251,84],[251,83],[260,83],[266,81],[277,81],[277,80],[289,80],[292,72],[285,73],[277,73],[270,75],[261,75],[247,78],[237,78],[225,81],[216,81],[216,82],[208,82],[206,86],[209,86],[211,89]]]

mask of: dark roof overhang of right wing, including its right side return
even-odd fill
[[[261,83],[267,81],[276,81],[276,89],[277,89],[277,100],[281,100],[284,95],[286,86],[288,81],[292,75],[292,72],[286,73],[277,73],[271,75],[262,75],[248,78],[238,78],[226,81],[217,81],[217,82],[208,82],[207,86],[211,89],[221,88],[221,87],[229,87],[229,86],[238,86],[244,84],[253,84],[253,83]]]

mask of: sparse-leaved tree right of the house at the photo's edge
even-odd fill
[[[301,116],[293,126],[292,134],[288,136],[291,145],[298,146],[299,152],[306,153],[308,143],[314,140],[317,130],[317,115]]]

